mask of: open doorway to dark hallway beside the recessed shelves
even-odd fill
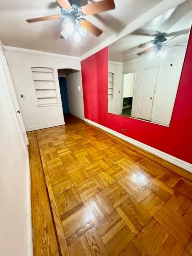
[[[58,69],[58,79],[65,123],[74,123],[75,117],[84,118],[81,71]]]

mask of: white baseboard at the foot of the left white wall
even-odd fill
[[[32,234],[32,218],[31,218],[31,178],[29,157],[27,156],[27,256],[33,256],[33,234]]]

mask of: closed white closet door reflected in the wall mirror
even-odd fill
[[[159,66],[144,68],[140,92],[139,118],[151,119],[153,98],[157,83]]]

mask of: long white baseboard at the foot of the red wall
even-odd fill
[[[171,155],[169,155],[169,154],[167,154],[167,153],[165,153],[163,151],[160,151],[160,150],[158,150],[156,148],[148,146],[148,145],[146,145],[146,144],[144,144],[144,143],[142,143],[142,142],[140,142],[138,140],[134,140],[134,139],[132,139],[132,138],[130,138],[128,136],[125,136],[125,135],[123,135],[123,134],[121,134],[119,132],[116,132],[116,131],[114,131],[114,130],[112,130],[110,128],[107,128],[107,127],[105,127],[105,126],[103,126],[101,124],[97,124],[96,122],[93,122],[93,121],[91,121],[89,119],[81,118],[81,117],[79,117],[79,118],[84,120],[84,121],[86,121],[86,122],[88,122],[89,124],[92,124],[92,125],[100,128],[100,129],[102,129],[102,130],[104,130],[104,131],[114,135],[114,136],[117,136],[118,138],[120,138],[122,140],[125,140],[125,141],[133,144],[134,146],[137,146],[138,148],[142,148],[143,150],[146,150],[146,151],[154,154],[155,156],[159,156],[160,158],[162,158],[162,159],[164,159],[164,160],[166,160],[166,161],[168,161],[168,162],[170,162],[172,164],[175,164],[176,166],[179,166],[179,167],[181,167],[181,168],[183,168],[183,169],[185,169],[185,170],[187,170],[189,172],[192,172],[192,164],[190,164],[188,162],[185,162],[185,161],[183,161],[183,160],[181,160],[179,158],[176,158],[174,156],[171,156]]]

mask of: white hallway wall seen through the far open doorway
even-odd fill
[[[82,74],[76,70],[66,70],[66,86],[70,114],[84,118]],[[80,92],[78,91],[80,86]]]

